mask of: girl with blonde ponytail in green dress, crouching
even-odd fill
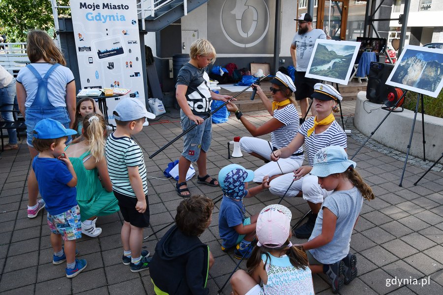
[[[65,151],[77,174],[77,202],[82,217],[82,234],[98,236],[97,216],[120,210],[112,192],[108,167],[104,157],[106,124],[102,116],[90,114],[83,119],[82,135],[85,140],[69,145]]]

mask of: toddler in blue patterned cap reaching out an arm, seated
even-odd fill
[[[219,233],[221,250],[228,251],[235,246],[234,257],[249,258],[255,236],[255,223],[258,214],[246,217],[243,198],[251,198],[269,187],[269,176],[263,182],[248,189],[248,181],[253,180],[254,172],[240,165],[230,164],[220,170],[219,182],[223,191],[219,212]]]

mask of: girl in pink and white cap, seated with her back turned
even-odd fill
[[[264,207],[257,218],[257,245],[230,283],[235,295],[314,295],[306,254],[292,246],[291,211],[283,205]],[[260,287],[263,282],[263,287]]]

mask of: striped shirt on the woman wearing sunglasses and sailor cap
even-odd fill
[[[283,126],[277,130],[271,132],[271,143],[275,148],[284,148],[297,135],[300,120],[298,119],[298,112],[294,104],[290,103],[283,109],[274,111],[274,118],[283,123]],[[300,147],[294,153],[303,152],[303,148]],[[303,155],[296,158],[303,159]]]

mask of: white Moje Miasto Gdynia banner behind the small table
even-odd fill
[[[130,89],[126,96],[145,104],[136,1],[70,4],[82,88]],[[112,112],[118,100],[106,101],[110,123],[115,123]]]

